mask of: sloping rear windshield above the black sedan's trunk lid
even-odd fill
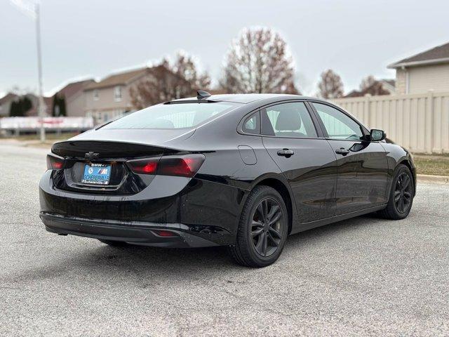
[[[236,106],[229,102],[159,104],[128,114],[102,128],[192,128]]]

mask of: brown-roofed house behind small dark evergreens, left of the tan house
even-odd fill
[[[86,98],[84,97],[84,89],[90,84],[94,84],[95,81],[93,79],[86,79],[83,81],[71,82],[60,89],[55,95],[58,95],[59,98],[65,99],[65,109],[67,117],[84,117],[86,116],[85,112],[85,103]],[[46,101],[47,111],[52,114],[53,110],[53,98],[51,100]]]

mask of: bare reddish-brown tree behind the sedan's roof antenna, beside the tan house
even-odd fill
[[[210,77],[199,74],[192,56],[178,53],[173,64],[163,58],[154,67],[147,69],[147,75],[130,88],[131,102],[135,109],[143,109],[177,98],[196,95],[196,90],[207,90]]]

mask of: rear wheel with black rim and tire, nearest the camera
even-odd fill
[[[281,194],[269,186],[250,192],[241,212],[236,243],[229,253],[246,267],[266,267],[282,253],[288,236],[288,212]]]

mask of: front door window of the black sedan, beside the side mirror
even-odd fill
[[[361,140],[363,132],[361,126],[335,107],[326,104],[312,103],[319,114],[324,127],[331,139]]]

